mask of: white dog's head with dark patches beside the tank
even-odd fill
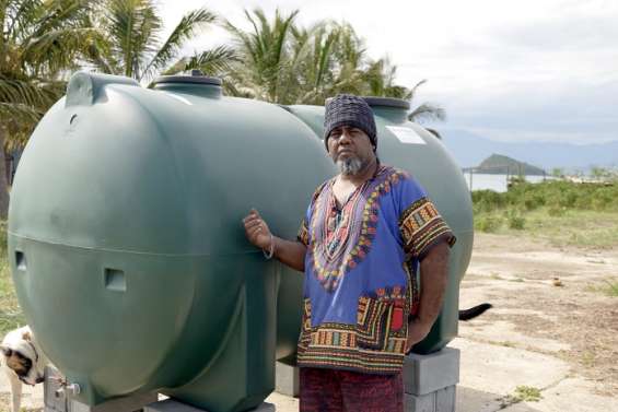
[[[0,350],[4,354],[4,364],[22,382],[36,385],[44,380],[40,355],[30,330],[22,329],[10,332],[0,345]]]

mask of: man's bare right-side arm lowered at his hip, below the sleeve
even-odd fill
[[[422,341],[438,318],[448,280],[448,244],[441,242],[421,260],[421,295],[418,316],[408,328],[406,353]]]

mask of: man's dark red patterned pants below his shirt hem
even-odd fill
[[[300,412],[403,412],[401,374],[301,367]]]

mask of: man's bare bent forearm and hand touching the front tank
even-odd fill
[[[249,214],[243,219],[245,235],[255,246],[272,256],[281,263],[300,272],[305,271],[305,255],[307,248],[300,242],[285,240],[270,233],[268,225],[259,213],[252,209]]]

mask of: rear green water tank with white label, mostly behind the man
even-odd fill
[[[408,102],[385,97],[365,97],[365,101],[375,116],[381,162],[410,173],[425,188],[457,237],[451,249],[442,313],[429,336],[413,348],[416,353],[435,352],[457,336],[459,282],[468,268],[474,240],[471,198],[459,166],[444,144],[419,125],[408,121]],[[311,127],[316,138],[323,138],[324,107],[287,108]]]

